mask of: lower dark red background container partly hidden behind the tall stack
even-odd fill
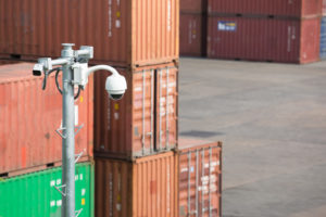
[[[203,40],[201,14],[180,14],[180,54],[203,55]]]

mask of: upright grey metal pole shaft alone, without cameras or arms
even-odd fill
[[[70,59],[67,64],[62,66],[62,182],[65,186],[65,195],[62,195],[63,217],[75,216],[75,111],[74,111],[74,86],[72,61],[74,44],[63,43],[61,56]]]

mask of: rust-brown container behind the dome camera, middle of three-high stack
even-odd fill
[[[109,99],[104,90],[110,73],[95,75],[96,155],[133,158],[174,149],[178,68],[171,63],[117,69],[127,79],[120,101]]]

